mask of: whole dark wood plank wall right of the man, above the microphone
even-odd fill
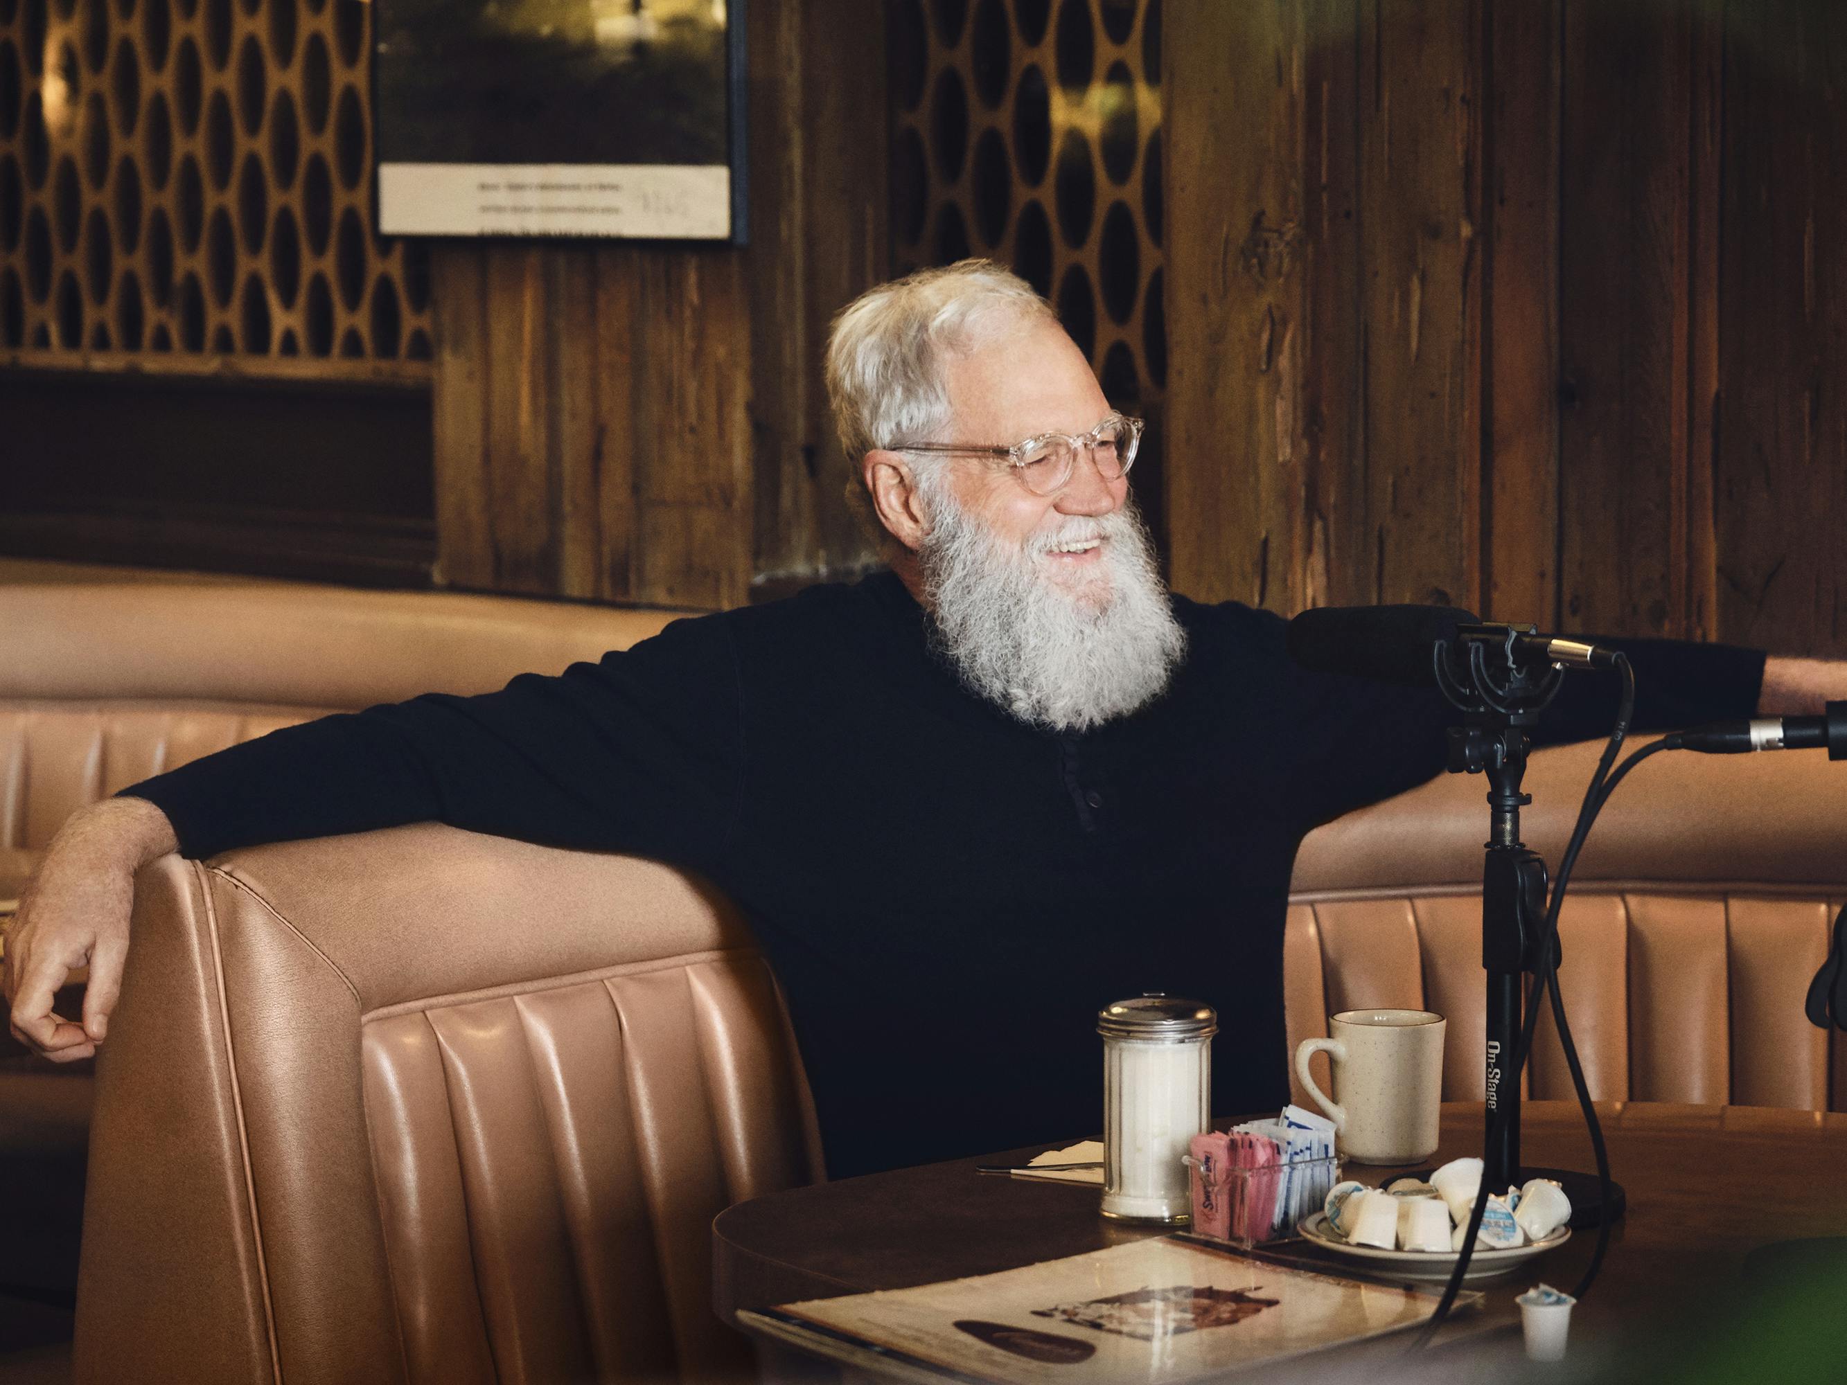
[[[1847,7],[1167,33],[1182,591],[1847,652]]]

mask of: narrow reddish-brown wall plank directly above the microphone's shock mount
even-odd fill
[[[1485,606],[1559,624],[1559,31],[1564,0],[1492,0]]]

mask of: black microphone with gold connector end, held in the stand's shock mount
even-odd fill
[[[1322,606],[1289,622],[1289,657],[1319,674],[1350,674],[1385,683],[1433,681],[1435,644],[1489,644],[1513,663],[1612,668],[1616,652],[1533,626],[1483,622],[1455,606]]]

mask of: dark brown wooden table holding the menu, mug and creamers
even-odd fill
[[[1847,1235],[1847,1114],[1758,1106],[1611,1102],[1598,1108],[1612,1174],[1629,1193],[1603,1271],[1572,1319],[1572,1354],[1618,1346],[1638,1322],[1675,1304],[1736,1300],[1747,1252],[1771,1241]],[[1522,1158],[1592,1171],[1577,1106],[1527,1102]],[[903,1289],[990,1274],[1158,1235],[1097,1215],[1097,1189],[973,1173],[975,1163],[1023,1163],[1031,1150],[791,1189],[742,1202],[713,1222],[715,1306],[735,1313],[802,1298]],[[1424,1167],[1481,1152],[1481,1104],[1443,1108],[1443,1145]],[[1346,1165],[1345,1176],[1389,1182],[1391,1169]],[[1457,1337],[1470,1352],[1518,1359],[1516,1341],[1483,1328],[1518,1322],[1516,1293],[1544,1280],[1570,1289],[1590,1261],[1596,1232],[1481,1285],[1481,1317]],[[1297,1243],[1291,1254],[1345,1265]],[[1468,1370],[1479,1370],[1481,1361]],[[1467,1372],[1459,1372],[1467,1374]]]

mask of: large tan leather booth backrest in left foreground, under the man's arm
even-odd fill
[[[722,1379],[709,1222],[818,1176],[776,986],[641,861],[166,859],[100,1066],[79,1381]]]

